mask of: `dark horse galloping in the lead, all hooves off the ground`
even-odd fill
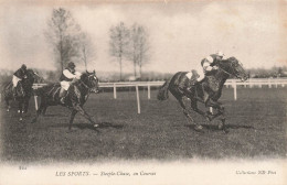
[[[242,80],[246,80],[247,74],[243,69],[242,64],[235,57],[220,61],[214,65],[216,65],[219,69],[206,74],[206,77],[196,85],[192,85],[192,83],[190,83],[190,79],[187,77],[188,72],[178,72],[170,80],[167,80],[161,86],[159,89],[158,99],[168,99],[168,91],[170,91],[180,102],[184,116],[193,122],[193,119],[183,102],[183,97],[188,97],[191,100],[192,110],[202,115],[209,121],[221,116],[222,122],[219,128],[227,132],[225,127],[224,107],[217,100],[221,97],[223,85],[228,77],[234,76]],[[184,87],[180,86],[180,84],[184,84]],[[217,112],[212,115],[210,111],[205,112],[200,110],[198,108],[198,101],[204,104],[205,107],[214,108]],[[202,131],[202,126],[195,122],[194,129],[196,131]]]

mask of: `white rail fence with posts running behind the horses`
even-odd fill
[[[164,81],[124,81],[124,83],[99,83],[100,88],[113,88],[114,99],[117,99],[117,88],[123,87],[135,87],[137,95],[137,109],[140,113],[140,99],[139,99],[139,87],[147,87],[148,89],[148,99],[150,99],[150,89],[151,87],[160,87]],[[33,88],[43,87],[46,84],[34,84]],[[285,87],[287,85],[287,78],[249,78],[246,81],[241,81],[240,79],[227,79],[224,84],[227,88],[232,87],[234,90],[234,100],[237,99],[237,86],[244,88],[263,88],[264,86],[268,88],[278,88]],[[34,97],[35,109],[38,109],[38,98]]]

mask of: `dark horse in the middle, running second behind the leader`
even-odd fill
[[[78,80],[74,80],[67,91],[65,104],[61,102],[59,97],[61,85],[59,83],[51,84],[34,90],[34,94],[40,97],[41,104],[36,111],[36,117],[32,120],[35,122],[40,115],[44,115],[49,106],[62,105],[71,109],[68,130],[72,128],[72,123],[77,112],[82,113],[94,127],[98,127],[89,115],[83,109],[84,104],[91,91],[98,92],[98,78],[96,77],[95,70],[93,73],[83,73]]]

